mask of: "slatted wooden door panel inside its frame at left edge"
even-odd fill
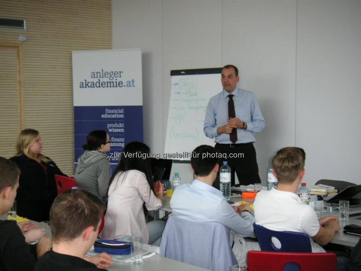
[[[18,48],[0,46],[0,156],[15,154],[19,125]]]

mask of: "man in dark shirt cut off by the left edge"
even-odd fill
[[[19,175],[17,164],[0,157],[0,215],[6,214],[14,203]],[[50,239],[41,238],[36,246],[38,258],[50,248]],[[16,222],[0,220],[0,270],[32,271],[34,266],[35,257]]]

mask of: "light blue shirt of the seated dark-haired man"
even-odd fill
[[[242,212],[240,216],[221,191],[197,179],[174,190],[170,207],[173,215],[182,219],[217,222],[243,237],[253,233],[255,219],[249,212]]]

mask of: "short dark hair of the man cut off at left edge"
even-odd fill
[[[20,169],[17,164],[0,157],[0,193],[8,186],[14,188],[19,175]]]

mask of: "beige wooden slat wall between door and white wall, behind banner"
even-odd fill
[[[0,16],[26,18],[25,31],[0,29],[0,41],[27,36],[22,46],[25,127],[39,130],[42,153],[73,174],[71,51],[112,48],[111,1],[0,0]]]

